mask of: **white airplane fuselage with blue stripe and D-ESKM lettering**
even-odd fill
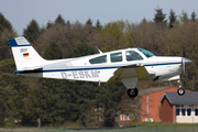
[[[127,51],[134,51],[142,58],[140,61],[127,61]],[[120,53],[122,57],[120,62],[112,62],[111,55],[113,55],[114,53]],[[107,56],[106,62],[98,64],[90,63],[90,59],[97,58],[99,56]],[[45,61],[45,63],[34,66],[43,67],[43,70],[41,72],[38,70],[36,73],[23,73],[21,70],[16,70],[15,74],[44,78],[107,82],[109,78],[114,75],[114,72],[119,67],[140,64],[143,65],[150,74],[153,74],[153,76],[142,78],[140,80],[153,80],[157,77],[156,81],[168,81],[179,79],[178,75],[182,73],[183,68],[182,59],[183,57],[146,57],[138,48],[127,48],[78,58]],[[136,76],[136,73],[134,73],[133,70],[129,70],[128,74],[129,76]],[[125,78],[128,78],[128,74],[125,74]]]

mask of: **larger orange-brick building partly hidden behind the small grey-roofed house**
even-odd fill
[[[141,122],[161,122],[161,99],[166,91],[177,91],[176,87],[148,88],[140,91]]]

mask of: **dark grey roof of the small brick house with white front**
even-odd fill
[[[160,102],[162,102],[165,97],[170,105],[198,105],[198,92],[196,91],[186,92],[184,96],[179,96],[177,92],[165,92]]]

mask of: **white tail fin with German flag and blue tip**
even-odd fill
[[[46,62],[37,54],[24,36],[10,38],[9,44],[12,48],[18,70],[40,69],[42,68],[40,66]]]

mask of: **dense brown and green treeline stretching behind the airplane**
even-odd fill
[[[78,57],[102,52],[142,47],[161,56],[187,58],[186,75],[182,76],[184,87],[198,90],[198,20],[183,11],[169,15],[156,9],[153,21],[143,19],[140,23],[114,21],[100,24],[88,19],[86,23],[65,21],[59,14],[54,22],[40,26],[32,20],[23,35],[46,59]],[[8,40],[18,36],[11,23],[0,14],[0,125],[14,120],[21,125],[117,125],[120,107],[128,106],[123,99],[125,88],[120,84],[67,81],[31,78],[14,75],[14,61]],[[154,84],[165,86],[168,82]],[[176,84],[172,84],[176,85]],[[134,109],[134,108],[133,108]],[[135,110],[131,112],[136,112]],[[131,118],[133,119],[133,117]],[[135,119],[135,118],[134,118]]]

